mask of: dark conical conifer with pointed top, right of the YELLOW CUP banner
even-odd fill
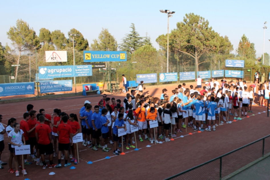
[[[133,50],[137,50],[143,45],[143,38],[140,37],[139,33],[135,29],[134,23],[131,23],[131,31],[129,34],[122,39],[122,43],[120,44],[120,49],[122,51],[126,51],[127,53],[132,54]]]

